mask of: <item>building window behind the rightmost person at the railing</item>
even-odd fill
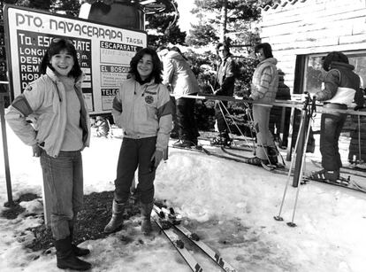
[[[366,88],[366,51],[343,52],[347,55],[349,64],[355,66],[355,73],[361,77],[361,88]],[[322,68],[326,54],[308,55],[305,65],[303,90],[313,94],[323,89],[323,79],[326,72]]]

